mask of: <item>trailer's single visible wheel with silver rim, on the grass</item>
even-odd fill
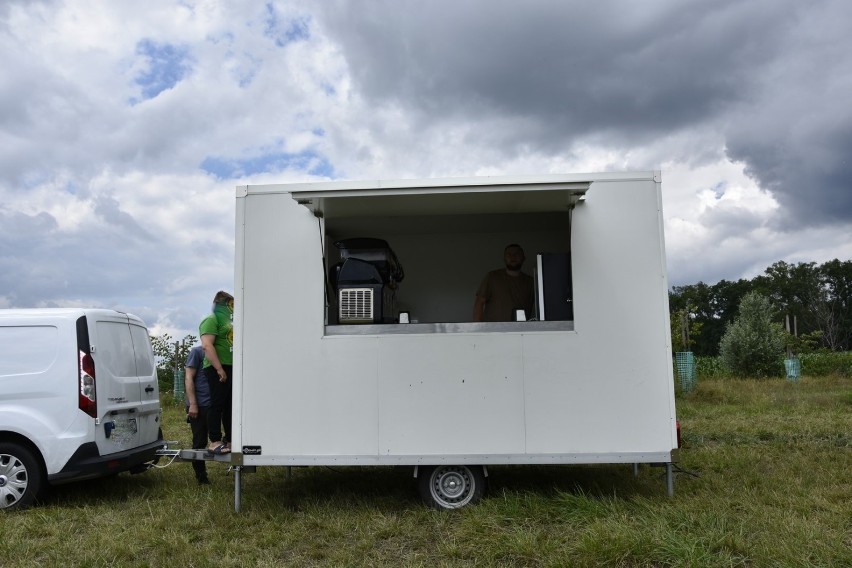
[[[476,503],[485,494],[485,474],[478,466],[437,465],[421,468],[417,476],[420,497],[439,510]]]

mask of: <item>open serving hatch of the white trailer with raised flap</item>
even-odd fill
[[[326,335],[573,329],[571,218],[588,183],[323,185],[292,195],[319,220]],[[480,281],[510,243],[536,279],[535,313],[473,322]]]

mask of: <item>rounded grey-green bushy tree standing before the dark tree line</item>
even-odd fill
[[[786,344],[784,328],[773,322],[772,305],[766,296],[749,292],[740,302],[739,314],[719,343],[722,364],[744,377],[777,375]]]

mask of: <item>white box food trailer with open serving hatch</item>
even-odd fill
[[[489,465],[653,463],[671,494],[660,185],[639,172],[238,187],[236,508],[256,466],[412,466],[427,502],[456,508]],[[535,276],[534,313],[474,322],[509,243]]]

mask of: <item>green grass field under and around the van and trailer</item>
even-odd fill
[[[852,566],[852,379],[699,382],[675,496],[643,466],[492,467],[452,513],[410,468],[189,464],[63,486],[0,515],[2,566]],[[183,410],[164,430],[188,446]]]

